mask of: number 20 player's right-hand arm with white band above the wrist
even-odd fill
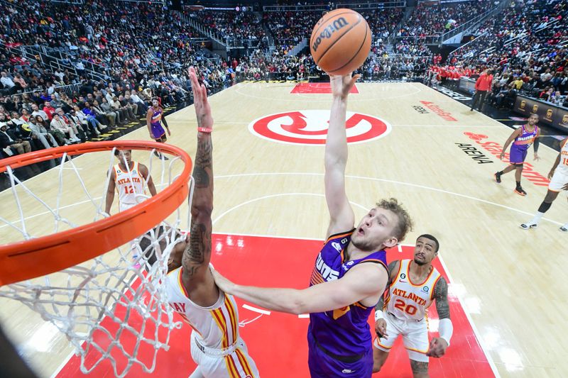
[[[427,355],[430,357],[442,357],[446,353],[449,340],[452,338],[452,333],[454,333],[454,326],[449,319],[448,284],[444,277],[440,277],[438,282],[436,282],[434,299],[439,318],[439,338],[430,340],[430,350],[428,350]]]

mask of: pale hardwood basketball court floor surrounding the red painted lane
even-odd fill
[[[215,119],[216,233],[324,237],[328,221],[324,148],[313,143],[324,138],[331,96],[290,94],[294,87],[241,83],[210,99]],[[356,218],[378,199],[393,196],[403,201],[415,221],[404,243],[413,243],[421,233],[439,238],[439,255],[452,276],[451,292],[469,313],[496,374],[562,377],[568,371],[564,359],[568,304],[561,294],[568,289],[563,269],[568,263],[568,235],[558,228],[568,221],[566,195],[559,196],[539,228],[519,228],[544,198],[544,177],[557,152],[542,145],[542,159],[537,162],[529,153],[530,166],[523,177],[528,196],[521,197],[513,193],[512,173],[500,185],[492,177],[506,166],[492,152],[498,153],[510,128],[422,84],[357,84],[357,89],[359,93],[350,95],[348,110],[362,116],[349,114],[351,137],[372,140],[349,145],[346,191]],[[287,114],[264,119],[276,113]],[[258,122],[252,133],[249,123],[254,120]],[[169,142],[194,155],[192,107],[168,116],[168,124],[173,133]],[[125,138],[147,140],[148,135],[141,128]],[[310,144],[270,138],[295,142],[309,138]],[[76,160],[82,172],[88,172],[87,187],[102,193],[108,160],[89,155]],[[47,172],[26,184],[53,199],[57,186],[50,187],[50,182],[56,177],[55,172]],[[17,214],[9,196],[0,193],[0,209],[2,216],[14,219]],[[73,196],[70,201],[75,201]],[[79,218],[92,218],[92,213],[82,216],[84,205],[70,209]],[[33,211],[30,206],[26,216]],[[9,228],[0,228],[1,240],[12,236]],[[282,272],[282,267],[273,269]],[[294,267],[285,267],[285,274],[294,272]],[[237,276],[231,278],[238,281]],[[43,376],[53,374],[71,351],[66,340],[24,306],[4,299],[0,304],[2,324],[22,354]],[[45,341],[33,342],[40,335]],[[456,371],[447,376],[467,375]]]

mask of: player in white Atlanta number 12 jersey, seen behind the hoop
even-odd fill
[[[144,196],[144,183],[148,183],[148,190],[155,196],[155,186],[148,167],[132,160],[131,150],[114,150],[114,156],[119,160],[110,172],[109,186],[107,187],[107,201],[105,212],[110,214],[114,202],[114,192],[119,194],[119,211],[125,211],[141,201]]]

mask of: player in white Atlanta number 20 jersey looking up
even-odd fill
[[[447,282],[432,260],[438,255],[439,242],[432,235],[416,240],[414,260],[393,261],[388,265],[388,285],[375,311],[377,338],[373,343],[373,372],[386,362],[388,352],[399,335],[408,351],[415,378],[428,377],[428,356],[442,357],[452,338],[449,320]],[[439,338],[428,342],[427,308],[436,301]]]

